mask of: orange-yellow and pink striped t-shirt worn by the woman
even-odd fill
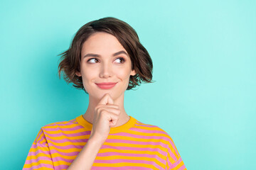
[[[186,169],[174,141],[161,128],[129,116],[127,123],[110,128],[92,169]],[[92,124],[82,115],[44,125],[23,166],[26,169],[68,169],[90,137]]]

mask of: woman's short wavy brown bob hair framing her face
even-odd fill
[[[117,18],[106,17],[99,20],[90,21],[82,26],[75,34],[70,47],[65,52],[61,53],[62,61],[58,65],[58,75],[64,72],[63,78],[67,83],[72,82],[76,89],[85,88],[82,84],[82,77],[78,77],[75,72],[80,72],[81,50],[83,43],[90,35],[97,32],[105,32],[114,35],[120,44],[127,50],[132,62],[132,70],[135,69],[134,76],[129,78],[129,86],[127,90],[133,89],[142,81],[152,83],[153,62],[146,48],[139,42],[139,37],[136,31],[129,26],[128,23]],[[85,91],[86,94],[87,91]]]

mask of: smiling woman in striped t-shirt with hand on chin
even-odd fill
[[[89,94],[89,105],[73,120],[43,126],[23,169],[186,169],[164,130],[124,110],[124,91],[151,83],[153,69],[131,26],[91,21],[60,55],[59,76]]]

